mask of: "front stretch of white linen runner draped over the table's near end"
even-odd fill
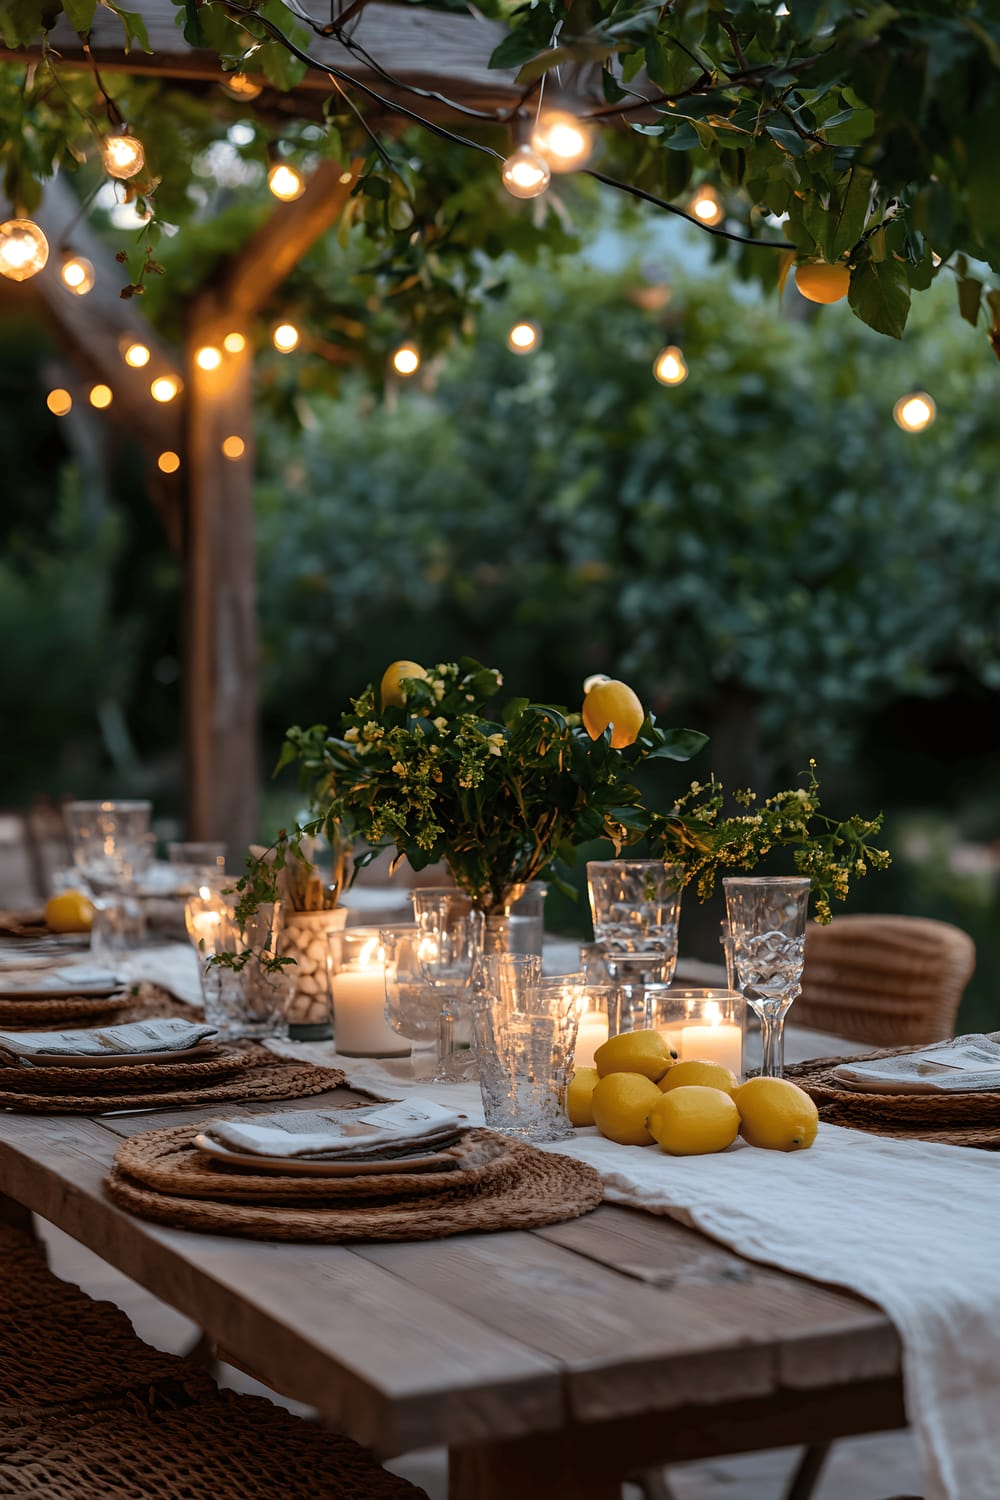
[[[810,1150],[666,1156],[592,1130],[552,1149],[604,1196],[877,1302],[903,1342],[925,1500],[1000,1496],[1000,1154],[820,1125]]]

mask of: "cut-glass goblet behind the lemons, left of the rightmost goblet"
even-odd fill
[[[673,978],[682,870],[663,860],[589,860],[586,885],[594,939],[618,986],[618,1024],[612,1029],[643,1026],[645,1017],[633,1014],[633,992]]]

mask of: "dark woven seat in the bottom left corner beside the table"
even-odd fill
[[[219,1390],[0,1224],[3,1500],[427,1500],[346,1437]]]

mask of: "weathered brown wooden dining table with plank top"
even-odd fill
[[[660,1464],[906,1424],[885,1312],[652,1214],[294,1245],[162,1228],[106,1197],[124,1137],[217,1113],[3,1113],[0,1216],[39,1214],[379,1456],[447,1446],[450,1500],[610,1500]]]

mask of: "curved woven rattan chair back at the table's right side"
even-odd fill
[[[976,948],[961,927],[927,916],[835,916],[805,936],[798,1026],[873,1047],[952,1036]]]

